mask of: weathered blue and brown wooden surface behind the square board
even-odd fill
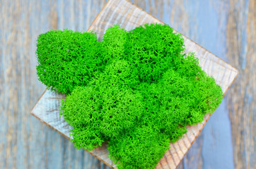
[[[108,168],[30,115],[45,90],[37,36],[87,30],[105,2],[0,0],[0,168]],[[256,168],[256,1],[132,2],[240,72],[179,168]]]

